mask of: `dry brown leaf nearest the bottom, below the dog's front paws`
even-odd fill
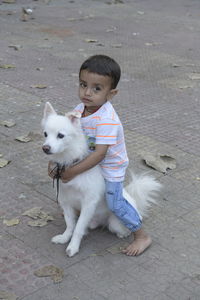
[[[64,271],[53,265],[42,267],[34,272],[37,277],[50,277],[54,283],[59,283],[62,281],[64,276]]]

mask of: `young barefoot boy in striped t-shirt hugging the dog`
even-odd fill
[[[118,63],[105,55],[94,55],[82,64],[79,72],[79,97],[82,103],[75,111],[82,114],[82,129],[88,137],[91,153],[80,163],[65,169],[61,173],[61,180],[68,182],[78,174],[100,165],[109,209],[134,232],[133,242],[123,252],[135,256],[150,246],[151,238],[141,228],[137,210],[122,196],[128,157],[122,124],[109,102],[118,92],[116,87],[120,75]],[[49,175],[53,176],[50,172]]]

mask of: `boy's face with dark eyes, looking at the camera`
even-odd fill
[[[111,89],[111,78],[82,70],[79,78],[79,97],[86,107],[98,108],[117,93]]]

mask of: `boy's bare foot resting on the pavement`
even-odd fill
[[[134,232],[134,241],[122,252],[129,256],[137,256],[142,254],[152,243],[149,235],[143,229]]]

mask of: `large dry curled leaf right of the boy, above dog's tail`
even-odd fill
[[[169,155],[143,153],[142,158],[148,166],[162,173],[176,168],[175,158]]]

